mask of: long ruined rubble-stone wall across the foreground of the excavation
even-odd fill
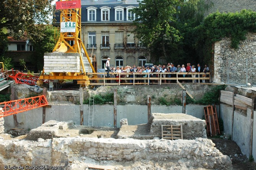
[[[76,160],[104,161],[104,165],[123,161],[157,161],[183,165],[185,168],[232,169],[231,160],[209,139],[137,140],[113,138],[53,138],[38,141],[8,141],[0,139],[0,167],[57,166],[65,169]],[[23,153],[23,154],[16,154]],[[177,164],[177,161],[179,162]],[[180,168],[173,168],[180,169]]]

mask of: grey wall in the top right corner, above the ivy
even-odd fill
[[[237,12],[243,9],[256,11],[255,0],[205,0],[205,2],[213,4],[207,13],[217,10],[220,12]]]

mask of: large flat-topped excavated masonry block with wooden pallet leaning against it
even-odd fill
[[[162,136],[161,125],[182,124],[183,139],[207,138],[205,120],[183,113],[152,113],[150,134]]]

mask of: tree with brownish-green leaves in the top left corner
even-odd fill
[[[53,0],[1,0],[0,30],[11,30],[12,36],[19,39],[24,35],[35,41],[41,39],[44,24],[52,23]]]

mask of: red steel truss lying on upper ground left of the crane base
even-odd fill
[[[14,71],[12,75],[9,75],[9,77],[13,78],[13,80],[17,84],[29,84],[29,85],[36,85],[36,81],[39,79],[38,76],[23,74],[22,72],[18,72],[14,75]]]

